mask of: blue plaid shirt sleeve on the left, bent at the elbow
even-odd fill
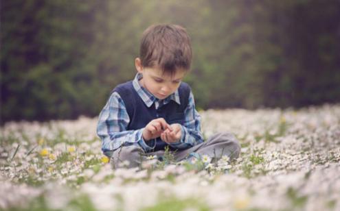
[[[142,136],[144,128],[126,130],[129,122],[124,101],[117,92],[113,92],[100,112],[97,125],[97,134],[102,140],[104,155],[111,157],[116,149],[133,144],[138,144],[146,152],[154,148],[144,142]]]

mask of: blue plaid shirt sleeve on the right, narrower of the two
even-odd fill
[[[190,92],[188,106],[184,110],[185,121],[181,128],[181,139],[170,145],[177,149],[188,149],[202,143],[201,116],[195,109],[194,95]]]

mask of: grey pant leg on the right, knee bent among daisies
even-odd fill
[[[177,161],[183,160],[189,156],[190,153],[199,153],[200,156],[207,155],[210,158],[221,158],[222,156],[228,156],[229,158],[238,158],[240,154],[240,143],[236,137],[231,133],[218,133],[210,136],[207,141],[185,149],[183,151],[177,151],[174,156]]]

